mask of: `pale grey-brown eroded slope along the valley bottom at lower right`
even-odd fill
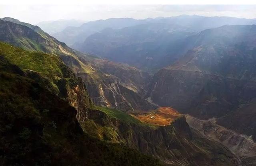
[[[216,124],[216,119],[203,121],[189,115],[186,116],[186,119],[190,127],[197,129],[206,137],[218,141],[239,156],[243,166],[255,164],[256,143],[252,138]]]

